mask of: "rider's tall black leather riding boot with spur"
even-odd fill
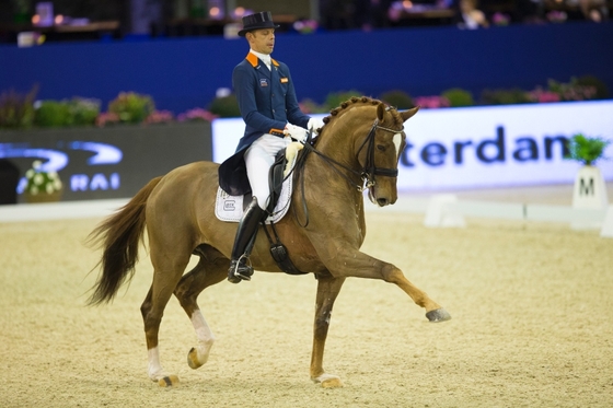
[[[251,280],[253,268],[247,265],[247,261],[255,243],[259,221],[264,218],[264,214],[265,211],[259,208],[257,199],[254,197],[243,213],[239,230],[236,230],[236,237],[232,247],[232,260],[230,261],[230,269],[228,269],[228,280],[232,283]]]

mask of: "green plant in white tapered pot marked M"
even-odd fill
[[[604,150],[609,144],[611,144],[610,140],[590,138],[583,133],[577,133],[570,138],[568,154],[565,159],[575,160],[582,164],[575,178],[574,208],[606,209],[609,205],[606,185],[600,168],[594,164],[597,161],[605,159]],[[600,223],[572,223],[572,228],[600,228]]]

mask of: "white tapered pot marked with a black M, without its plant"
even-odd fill
[[[590,165],[581,167],[575,177],[572,208],[601,210],[604,214],[608,206],[606,184],[600,168]],[[572,221],[570,226],[576,230],[600,229],[602,221]]]

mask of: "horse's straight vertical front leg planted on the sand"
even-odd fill
[[[342,387],[340,378],[326,374],[323,368],[325,340],[329,328],[332,307],[345,278],[332,276],[317,278],[317,298],[315,301],[315,323],[313,327],[313,352],[311,354],[311,380],[325,388]]]

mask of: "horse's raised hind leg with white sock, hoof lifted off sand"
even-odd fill
[[[200,257],[198,265],[181,278],[174,291],[196,331],[198,345],[187,353],[187,364],[194,370],[207,362],[215,342],[215,336],[198,307],[198,294],[225,279],[229,263],[228,258],[211,247],[198,247],[196,254]]]

